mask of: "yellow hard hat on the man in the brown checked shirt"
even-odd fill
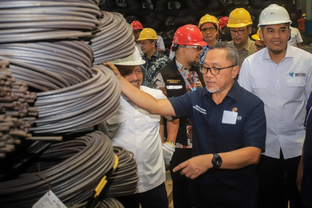
[[[234,9],[229,16],[228,27],[244,27],[252,24],[249,12],[244,8]]]

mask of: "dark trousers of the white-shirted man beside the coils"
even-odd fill
[[[168,198],[165,183],[143,193],[135,193],[128,196],[119,196],[116,199],[125,208],[168,208]]]

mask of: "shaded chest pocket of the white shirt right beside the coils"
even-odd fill
[[[111,138],[126,136],[128,133],[126,116],[112,116],[106,120],[106,125]]]

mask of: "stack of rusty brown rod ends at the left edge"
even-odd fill
[[[38,115],[30,109],[37,95],[25,83],[16,81],[8,71],[9,61],[0,61],[0,158],[15,150],[21,138],[31,137],[29,128]]]

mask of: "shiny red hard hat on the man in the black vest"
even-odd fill
[[[174,40],[172,42],[179,45],[207,45],[198,27],[193,24],[186,24],[179,27],[176,30]]]

